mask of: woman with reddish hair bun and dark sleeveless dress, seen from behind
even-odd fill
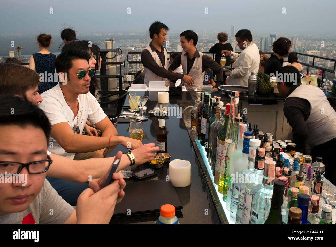
[[[45,82],[41,82],[38,91],[38,93],[41,94],[55,86],[53,78],[55,73],[54,60],[56,59],[56,55],[48,51],[48,47],[50,46],[50,43],[52,43],[50,34],[40,34],[37,37],[37,43],[40,51],[31,55],[29,67],[37,73],[47,73],[47,75],[43,77],[44,79],[49,79],[48,73],[52,73],[51,82],[50,79]]]

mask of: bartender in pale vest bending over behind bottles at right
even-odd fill
[[[286,97],[284,115],[293,128],[296,150],[311,149],[312,162],[322,157],[326,165],[325,177],[336,184],[335,110],[321,89],[301,84],[299,71],[294,66],[281,68],[277,81],[279,93]]]

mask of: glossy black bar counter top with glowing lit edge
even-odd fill
[[[221,101],[229,101],[227,95],[222,94],[221,91],[208,91],[212,96],[221,96]],[[157,92],[136,92],[137,96],[146,95],[150,96],[149,100],[145,104],[147,107],[144,115],[148,116],[148,110],[153,110],[155,106],[159,106],[157,102]],[[196,91],[183,91],[181,96],[169,97],[169,104],[164,104],[166,107],[182,107],[182,111],[185,107],[195,104]],[[263,96],[246,96],[240,97],[240,101],[265,101],[271,100],[281,101],[284,97],[276,97],[270,95]],[[332,99],[336,99],[335,95],[332,95]],[[128,110],[124,108],[124,110]],[[188,108],[190,110],[191,108]],[[176,112],[176,111],[175,111]],[[177,112],[182,114],[182,112]],[[213,184],[213,175],[211,169],[207,163],[207,158],[204,153],[204,147],[200,145],[200,141],[197,139],[195,132],[192,132],[190,127],[186,127],[181,115],[169,115],[165,117],[165,123],[168,131],[168,153],[171,154],[170,161],[174,159],[188,160],[191,163],[191,185],[184,188],[174,187],[183,208],[181,213],[177,213],[181,224],[228,224],[230,223],[229,211],[226,210],[225,202],[222,200],[222,194],[217,192],[217,186]],[[190,116],[190,114],[189,114]],[[249,121],[249,118],[248,118]],[[156,144],[156,133],[158,130],[159,117],[149,116],[148,120],[142,121],[143,124],[143,139],[142,143]],[[129,137],[129,122],[118,122],[117,125],[118,135]],[[267,132],[269,133],[269,132]],[[278,140],[278,139],[277,139]],[[113,150],[109,156],[114,156],[117,151],[127,152],[128,150],[119,145]],[[127,167],[133,172],[149,168],[148,163],[141,165],[133,165]],[[169,162],[164,163],[164,166],[155,169],[158,175],[155,177],[146,178],[143,180],[137,180],[132,177],[126,180],[127,182],[139,182],[154,179],[166,179],[169,174]],[[329,181],[326,181],[329,186],[336,189]],[[127,193],[125,193],[127,196]],[[145,199],[144,199],[145,200]],[[136,203],[136,201],[134,202]],[[118,207],[118,205],[116,206]],[[138,217],[123,217],[113,218],[111,223],[121,224],[154,224],[160,215],[153,216],[138,216]]]

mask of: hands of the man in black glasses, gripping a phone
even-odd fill
[[[106,174],[99,179],[93,179],[89,182],[90,189],[84,190],[78,197],[76,207],[77,223],[108,224],[110,222],[115,205],[125,195],[123,189],[126,183],[123,180],[122,174],[113,173],[110,179],[112,177],[114,181],[111,184],[108,183],[106,187],[104,185],[109,178],[113,166],[118,166],[121,156],[122,152],[119,151]]]

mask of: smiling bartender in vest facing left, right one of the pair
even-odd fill
[[[180,34],[182,54],[178,55],[174,62],[169,66],[169,70],[175,70],[182,64],[183,74],[191,76],[194,83],[184,81],[187,90],[201,90],[203,87],[205,69],[210,68],[217,75],[217,82],[223,81],[223,69],[211,57],[204,55],[196,49],[198,36],[191,30],[184,31]]]

